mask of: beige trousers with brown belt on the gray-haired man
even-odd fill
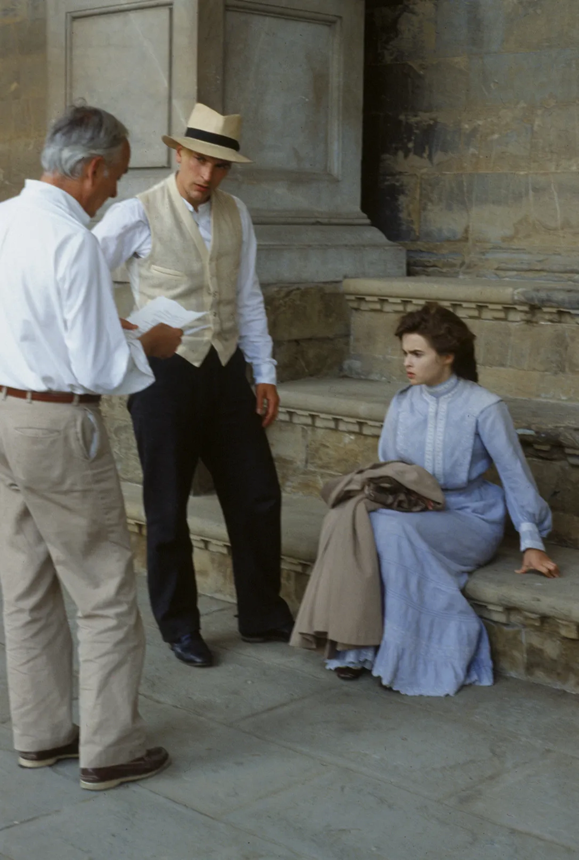
[[[81,767],[143,755],[143,623],[100,409],[0,394],[0,582],[15,749],[68,743],[76,604]]]

